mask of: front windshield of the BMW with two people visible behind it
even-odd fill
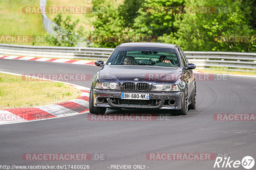
[[[106,64],[180,67],[176,50],[160,47],[118,47]]]

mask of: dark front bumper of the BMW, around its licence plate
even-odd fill
[[[128,91],[110,91],[92,89],[94,96],[95,107],[108,107],[108,108],[127,108],[127,109],[181,109],[181,99],[183,91],[180,92],[130,92],[130,93],[149,93],[149,101],[146,100],[132,100],[121,99],[121,93],[129,93]],[[103,102],[99,102],[103,99]],[[112,100],[115,101],[112,101]],[[124,101],[127,100],[127,101]],[[160,100],[160,103],[155,103],[156,100]],[[168,101],[172,100],[175,103],[169,104]],[[123,103],[122,103],[123,102]],[[126,102],[126,103],[125,103]],[[128,103],[127,103],[128,102]],[[135,102],[135,104],[134,104]],[[142,103],[152,104],[142,104]],[[158,101],[159,102],[159,101]]]

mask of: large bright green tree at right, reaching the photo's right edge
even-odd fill
[[[186,6],[213,6],[215,13],[183,14],[177,18],[179,29],[174,34],[164,34],[158,40],[167,43],[176,43],[188,51],[230,51],[255,52],[255,42],[223,42],[216,41],[217,36],[226,35],[254,35],[255,28],[250,25],[247,12],[235,0],[190,0]],[[225,9],[227,11],[225,11]],[[254,21],[255,22],[255,21]]]

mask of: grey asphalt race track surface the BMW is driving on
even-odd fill
[[[17,74],[95,74],[100,67],[51,62],[3,60],[0,71]],[[91,81],[71,83],[91,87]],[[148,160],[147,153],[228,154],[231,160],[256,158],[255,121],[216,121],[217,113],[255,114],[256,78],[197,81],[196,110],[187,116],[162,116],[164,110],[110,110],[106,113],[158,114],[155,121],[89,121],[86,114],[0,125],[1,165],[146,165],[148,170],[213,168],[213,160]],[[165,119],[165,120],[162,120]],[[24,153],[97,153],[106,160],[29,161]],[[221,164],[222,165],[222,164]],[[113,169],[113,168],[112,168]],[[241,165],[236,169],[244,169]],[[255,169],[255,165],[254,168]]]

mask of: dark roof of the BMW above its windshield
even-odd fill
[[[120,44],[118,47],[126,46],[139,46],[139,47],[162,47],[162,48],[177,48],[176,44],[167,44],[167,43],[156,43],[156,42],[129,42]]]

